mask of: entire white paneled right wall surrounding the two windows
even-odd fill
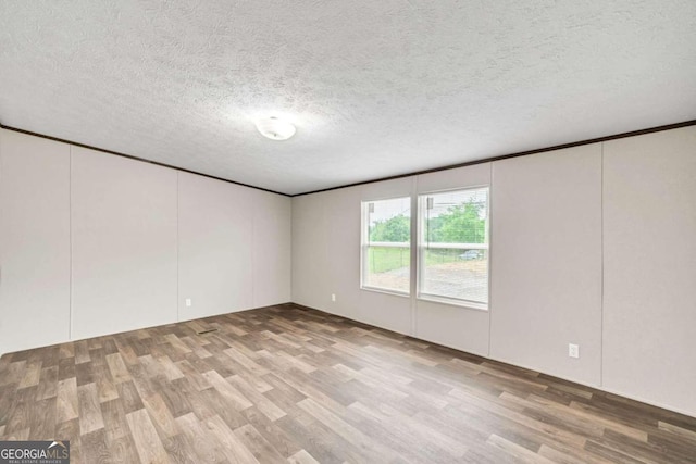
[[[293,301],[696,416],[695,148],[688,127],[296,197]],[[361,200],[488,179],[489,311],[360,290]]]

